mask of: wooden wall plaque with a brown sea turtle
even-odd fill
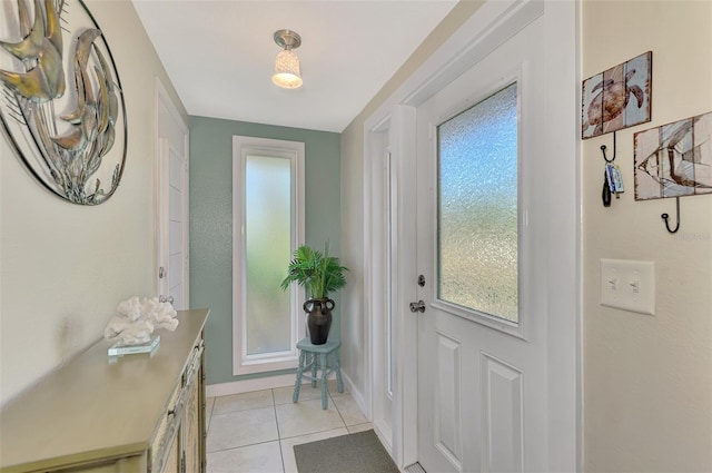
[[[583,81],[581,137],[651,120],[652,51]]]

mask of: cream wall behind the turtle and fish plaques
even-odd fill
[[[712,111],[712,2],[582,4],[583,78],[653,51],[652,122],[617,132],[626,186],[601,205],[612,134],[582,144],[584,470],[712,471],[712,195],[633,199],[633,134]],[[673,216],[674,224],[674,216]],[[599,304],[599,260],[655,263],[654,317]]]

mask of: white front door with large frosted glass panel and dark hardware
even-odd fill
[[[417,107],[427,472],[547,470],[544,35],[540,17]]]

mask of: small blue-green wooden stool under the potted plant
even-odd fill
[[[301,378],[312,380],[312,387],[316,387],[316,382],[322,381],[322,408],[328,405],[328,396],[326,394],[326,377],[330,373],[336,373],[336,387],[339,393],[344,392],[344,382],[342,381],[342,367],[338,362],[338,347],[342,346],[340,341],[328,341],[324,345],[314,345],[309,338],[303,338],[297,343],[299,348],[299,366],[297,367],[297,381],[294,384],[294,394],[291,402],[299,401],[299,388],[301,387]],[[328,356],[333,356],[334,367],[328,367]],[[312,371],[312,374],[304,374],[305,371]],[[320,376],[317,377],[316,372],[320,369]]]

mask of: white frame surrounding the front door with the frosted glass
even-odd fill
[[[468,70],[481,58],[494,50],[533,19],[544,14],[546,24],[546,67],[560,75],[551,81],[546,90],[547,116],[555,126],[545,136],[547,156],[571,179],[557,183],[556,188],[543,188],[546,203],[552,211],[548,228],[556,229],[547,238],[547,252],[560,257],[546,268],[550,280],[545,295],[548,307],[547,339],[547,393],[548,422],[556,428],[547,430],[547,464],[551,471],[577,471],[581,466],[581,218],[580,218],[580,60],[578,60],[578,2],[556,0],[507,0],[490,1],[481,7],[463,26],[443,43],[364,125],[364,295],[370,300],[383,289],[374,277],[378,270],[375,255],[384,254],[377,248],[377,221],[383,221],[379,203],[373,201],[370,189],[382,181],[377,176],[379,167],[373,156],[376,135],[388,130],[393,159],[402,174],[402,181],[409,180],[408,173],[414,165],[408,160],[414,154],[415,107],[432,97],[443,86]],[[562,87],[565,85],[566,87]],[[415,179],[409,180],[415,183]],[[415,189],[413,190],[415,191]],[[412,218],[412,220],[415,220]],[[402,218],[397,231],[415,231],[415,221]],[[404,252],[407,248],[402,248]],[[413,253],[415,254],[415,253]],[[415,277],[415,263],[398,259],[394,272],[399,280]],[[376,268],[376,269],[374,269]],[[394,295],[400,304],[395,313],[394,354],[396,357],[394,383],[393,437],[386,440],[392,446],[392,455],[399,466],[415,463],[417,455],[417,318],[407,312],[407,303],[415,300],[415,284],[402,287]],[[412,293],[412,294],[411,294]],[[376,297],[377,299],[377,297]],[[366,305],[366,354],[374,349],[374,333],[379,316],[377,307]],[[382,369],[380,359],[366,355],[368,378],[373,380]],[[367,397],[373,402],[374,383],[365,386]],[[370,405],[368,406],[370,412]]]

